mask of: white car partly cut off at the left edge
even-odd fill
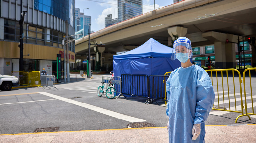
[[[0,90],[8,91],[8,90],[11,90],[13,86],[18,86],[18,85],[19,85],[19,80],[16,76],[0,74]]]

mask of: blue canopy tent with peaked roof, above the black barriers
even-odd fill
[[[171,60],[172,48],[150,38],[131,51],[113,55],[114,76],[121,74],[164,75],[181,66],[179,60]]]

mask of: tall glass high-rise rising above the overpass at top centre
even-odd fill
[[[142,0],[118,0],[118,22],[142,14]]]

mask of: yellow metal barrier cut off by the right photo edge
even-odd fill
[[[245,112],[246,112],[246,115],[248,116],[248,115],[256,115],[256,113],[254,113],[254,106],[255,106],[255,102],[253,102],[253,98],[256,98],[256,95],[253,95],[253,90],[252,89],[255,89],[255,87],[253,88],[252,87],[252,83],[254,83],[253,85],[255,86],[255,81],[253,81],[252,82],[252,78],[251,78],[251,70],[255,70],[255,72],[256,72],[256,68],[248,68],[248,69],[245,69],[245,71],[243,72],[243,80],[244,80],[244,94],[245,94]],[[246,84],[245,84],[245,82],[247,81],[246,79],[245,79],[245,72],[246,71],[249,71],[249,84],[247,84],[247,85],[249,85],[250,86],[250,94],[251,94],[251,96],[250,97],[248,97],[248,98],[251,98],[251,103],[247,103],[247,100],[246,100]],[[255,78],[253,79],[253,80],[255,80]],[[249,93],[248,93],[249,94]],[[253,105],[254,104],[254,105]],[[249,110],[248,111],[248,108],[252,108],[252,110]],[[240,115],[240,117],[241,116],[245,116],[245,115]],[[249,119],[250,119],[250,116],[248,116],[249,117]]]

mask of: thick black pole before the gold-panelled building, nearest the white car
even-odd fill
[[[19,71],[23,71],[23,24],[24,24],[24,18],[26,15],[27,11],[22,11],[22,7],[23,7],[23,1],[21,0],[20,3],[20,20],[19,20],[19,24],[20,24],[20,59],[19,59]]]

